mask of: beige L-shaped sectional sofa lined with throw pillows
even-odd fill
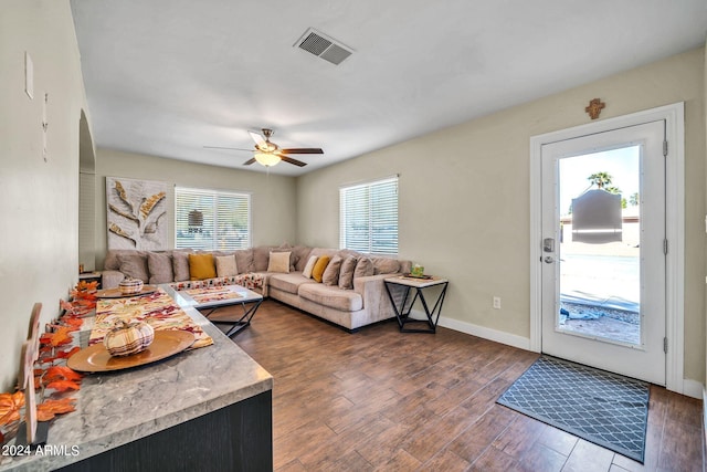
[[[273,252],[288,252],[288,266],[275,264],[276,261],[286,259],[285,254],[275,255],[271,261]],[[217,273],[215,277],[191,280],[193,274],[184,265],[189,264],[190,253],[211,253],[214,260],[234,255],[238,274],[219,276],[223,274]],[[330,262],[326,264],[324,273],[317,274],[315,271],[314,275],[319,275],[321,280],[317,282],[313,276],[307,276],[309,274],[305,274],[305,270],[310,260],[312,264],[315,261],[325,262],[324,256]],[[219,262],[224,260],[226,259],[220,259]],[[103,286],[115,287],[125,276],[150,284],[169,283],[177,290],[238,284],[348,331],[356,331],[394,316],[383,279],[410,272],[410,261],[303,245],[256,247],[231,252],[116,250],[106,254]]]

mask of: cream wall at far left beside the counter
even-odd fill
[[[25,51],[34,62],[34,99],[24,93]],[[43,322],[55,317],[78,270],[78,122],[85,96],[67,0],[0,3],[0,391],[10,391],[33,304],[43,304]]]

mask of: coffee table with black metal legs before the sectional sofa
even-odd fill
[[[225,333],[232,337],[251,325],[255,312],[263,303],[263,295],[241,285],[222,285],[203,289],[188,289],[176,291],[169,286],[165,289],[181,307],[194,307],[213,324],[232,325]],[[241,305],[243,315],[235,322],[211,319],[209,316],[219,308]]]

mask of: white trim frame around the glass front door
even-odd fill
[[[541,263],[541,148],[542,145],[665,119],[666,159],[666,382],[685,394],[684,274],[685,274],[685,105],[676,103],[590,123],[530,138],[530,350],[542,346]]]

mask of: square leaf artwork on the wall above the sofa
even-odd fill
[[[161,250],[167,244],[163,182],[106,178],[108,248]]]

